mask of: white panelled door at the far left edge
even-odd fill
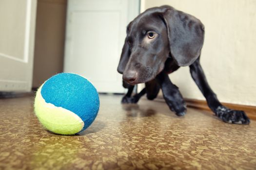
[[[0,91],[30,91],[37,0],[0,0]]]

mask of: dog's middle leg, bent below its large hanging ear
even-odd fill
[[[159,73],[157,80],[162,89],[163,98],[169,108],[174,111],[177,116],[184,116],[187,109],[178,87],[171,82],[168,74],[165,72]]]

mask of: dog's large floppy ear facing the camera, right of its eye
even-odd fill
[[[178,66],[189,66],[200,55],[204,26],[196,17],[177,11],[171,6],[162,8],[166,8],[162,15],[172,57]]]

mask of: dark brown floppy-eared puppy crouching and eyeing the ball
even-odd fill
[[[204,26],[200,20],[171,6],[150,8],[138,15],[127,26],[118,65],[123,86],[129,89],[122,103],[137,103],[145,93],[153,100],[161,88],[169,108],[177,116],[185,115],[185,102],[168,74],[189,66],[192,78],[218,118],[228,123],[249,124],[244,111],[223,106],[208,85],[199,63],[203,41]],[[134,85],[139,83],[146,87],[131,97]]]

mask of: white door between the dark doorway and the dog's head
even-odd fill
[[[98,92],[123,93],[117,72],[127,24],[139,0],[69,0],[64,72],[80,74]]]

